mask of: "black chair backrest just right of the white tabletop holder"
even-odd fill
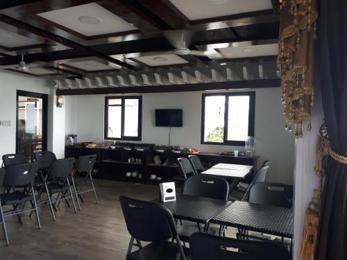
[[[183,194],[228,200],[229,184],[221,177],[194,175],[185,180]]]

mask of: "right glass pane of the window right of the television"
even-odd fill
[[[229,96],[228,140],[245,141],[248,137],[249,96]]]

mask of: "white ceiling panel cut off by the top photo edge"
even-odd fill
[[[189,20],[271,9],[271,0],[169,0]]]

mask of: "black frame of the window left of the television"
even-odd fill
[[[121,99],[121,137],[108,137],[108,107],[119,105],[108,105],[110,99]],[[138,99],[139,111],[138,111],[138,129],[137,137],[129,137],[124,135],[124,114],[125,114],[125,100],[126,99]],[[104,111],[104,125],[103,125],[103,138],[107,140],[124,140],[124,141],[141,141],[142,140],[142,96],[105,96],[105,111]]]

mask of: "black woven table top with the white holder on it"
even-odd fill
[[[176,201],[160,202],[167,207],[175,218],[207,224],[231,202],[211,198],[176,195]]]

